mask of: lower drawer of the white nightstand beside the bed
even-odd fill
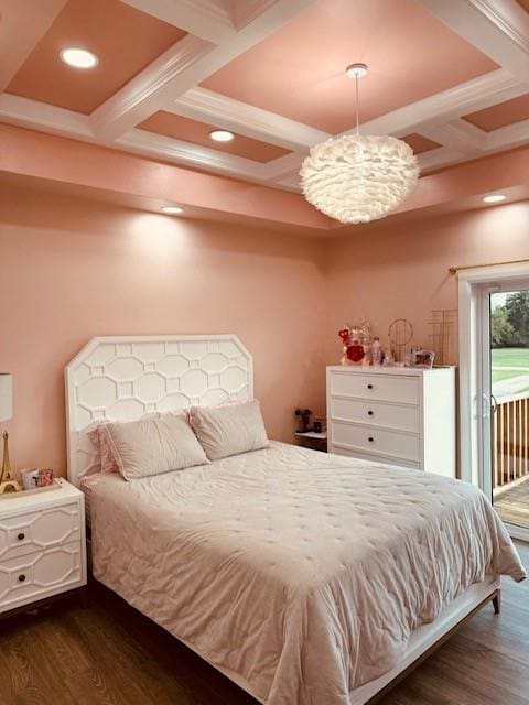
[[[84,584],[80,541],[2,560],[0,612]]]

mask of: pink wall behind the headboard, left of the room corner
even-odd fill
[[[13,467],[64,473],[63,368],[96,335],[236,333],[272,437],[296,404],[323,411],[320,243],[8,187],[0,247]]]

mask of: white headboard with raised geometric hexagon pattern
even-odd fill
[[[99,469],[87,431],[191,404],[253,398],[252,357],[236,335],[93,338],[65,368],[68,479]]]

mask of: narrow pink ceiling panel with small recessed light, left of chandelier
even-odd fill
[[[142,130],[165,134],[184,142],[202,144],[203,147],[236,154],[237,156],[246,156],[246,159],[251,159],[256,162],[269,162],[278,156],[289,154],[289,150],[240,134],[236,134],[235,140],[231,142],[214,142],[209,138],[209,132],[218,129],[218,126],[205,124],[164,110],[159,110],[138,127]]]

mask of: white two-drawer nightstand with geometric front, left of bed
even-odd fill
[[[86,585],[85,498],[61,489],[0,499],[0,614]]]

